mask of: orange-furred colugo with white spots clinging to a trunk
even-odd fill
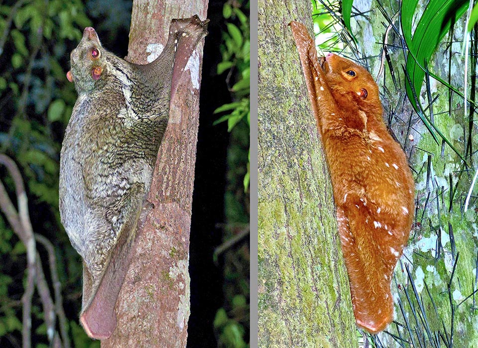
[[[393,320],[390,284],[413,221],[413,178],[370,74],[332,53],[319,61],[305,26],[290,25],[329,165],[354,315],[375,334]]]

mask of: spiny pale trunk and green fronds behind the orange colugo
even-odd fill
[[[392,282],[396,319],[379,335],[360,332],[363,347],[478,343],[478,5],[467,26],[470,3],[312,0],[319,49],[377,76],[416,183],[415,223]]]

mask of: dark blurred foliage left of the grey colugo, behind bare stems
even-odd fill
[[[66,79],[69,54],[81,39],[83,28],[92,25],[86,15],[88,4],[80,0],[0,4],[0,152],[10,156],[20,169],[34,232],[54,244],[62,292],[67,294],[63,304],[71,317],[68,319],[74,322],[80,310],[81,262],[59,221],[58,176],[61,141],[76,101],[74,85]],[[118,25],[129,26],[129,22]],[[1,181],[16,206],[12,180],[5,174],[1,167]],[[45,249],[39,243],[37,246],[42,259],[47,259]],[[21,342],[20,298],[26,279],[26,254],[3,215],[0,258],[0,346],[8,347],[5,336],[11,342]],[[43,269],[50,281],[48,263]],[[53,288],[50,291],[53,293]],[[34,347],[49,347],[46,327],[41,324],[43,309],[36,295],[32,303],[32,342]],[[100,342],[92,342],[78,325],[71,329],[75,347],[100,347]]]

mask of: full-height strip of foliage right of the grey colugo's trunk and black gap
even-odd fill
[[[226,226],[223,234],[224,292],[226,303],[214,320],[219,347],[249,347],[249,1],[231,0],[223,7],[223,61],[217,73],[226,75],[232,103],[215,113],[226,114],[214,124],[227,121],[231,133],[225,194]],[[239,165],[238,165],[239,164]],[[218,257],[216,249],[215,257]]]

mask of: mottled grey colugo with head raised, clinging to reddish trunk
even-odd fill
[[[60,216],[83,258],[80,321],[104,339],[116,328],[115,304],[179,78],[207,23],[173,19],[161,55],[147,65],[105,50],[88,27],[71,53],[68,80],[78,99],[60,158]]]

